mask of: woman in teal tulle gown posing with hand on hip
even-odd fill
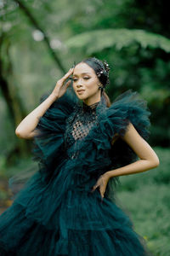
[[[0,217],[1,255],[150,255],[115,200],[119,176],[159,165],[145,140],[150,111],[132,90],[111,104],[109,70],[79,62],[18,125],[39,170]]]

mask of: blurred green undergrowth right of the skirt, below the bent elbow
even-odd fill
[[[119,205],[132,218],[134,229],[143,236],[156,256],[170,252],[170,198],[168,148],[154,148],[160,166],[149,172],[121,177],[117,191]]]

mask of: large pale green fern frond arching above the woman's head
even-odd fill
[[[105,38],[105,39],[104,39]],[[120,50],[137,42],[142,48],[160,48],[170,52],[170,40],[159,34],[137,29],[105,29],[83,32],[66,41],[66,46],[71,49],[82,48],[87,55],[92,55],[105,48],[115,47]]]

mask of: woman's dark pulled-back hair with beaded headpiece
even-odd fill
[[[88,59],[82,60],[81,62],[84,62],[88,64],[89,67],[92,67],[94,69],[94,72],[98,76],[99,82],[103,85],[103,96],[105,98],[105,104],[109,108],[111,106],[111,100],[109,96],[105,93],[105,86],[107,84],[110,84],[109,80],[109,65],[106,61],[102,62],[99,59],[95,57],[90,57]]]

